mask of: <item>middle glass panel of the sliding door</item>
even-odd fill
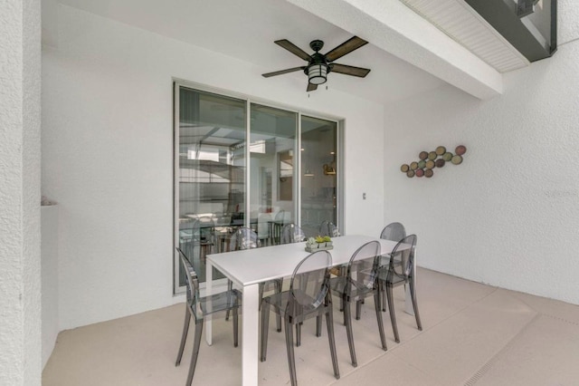
[[[280,244],[280,229],[295,222],[298,114],[251,104],[250,213],[261,246]]]

